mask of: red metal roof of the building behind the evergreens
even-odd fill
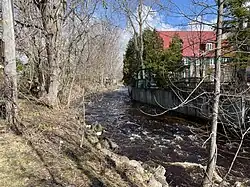
[[[164,42],[164,49],[169,48],[172,38],[175,34],[178,34],[183,41],[184,57],[212,57],[214,56],[214,50],[205,53],[201,51],[200,44],[206,45],[206,43],[212,43],[213,49],[215,48],[216,33],[214,31],[158,31],[160,37]]]

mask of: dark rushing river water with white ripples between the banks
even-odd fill
[[[125,87],[95,96],[90,99],[86,109],[87,122],[102,124],[105,127],[105,135],[119,145],[119,153],[130,159],[153,160],[159,163],[206,163],[204,137],[192,131],[188,123],[180,124],[167,118],[157,120],[143,115],[138,110],[138,104],[130,101]],[[232,154],[224,144],[219,147],[224,150],[218,155],[219,164],[228,167]],[[240,170],[238,173],[249,173],[247,165],[247,159],[236,162],[236,167]],[[198,186],[190,183],[191,180],[187,182],[181,176],[173,176],[179,175],[179,172],[167,172],[167,179],[173,179],[173,186]]]

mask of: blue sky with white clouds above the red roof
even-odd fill
[[[215,22],[215,0],[199,0],[200,4],[194,4],[195,1],[198,0],[144,0],[144,8],[147,10],[150,7],[154,11],[153,15],[149,16],[147,24],[157,30],[187,30],[192,19],[206,23]],[[136,13],[138,1],[128,0],[128,2],[132,11]],[[126,28],[128,20],[120,13],[117,1],[106,0],[106,4],[107,9],[103,7],[99,9],[99,16],[106,17],[122,29]],[[207,26],[205,28],[208,29]]]

